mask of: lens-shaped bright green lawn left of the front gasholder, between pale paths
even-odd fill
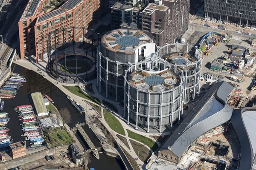
[[[117,130],[117,133],[121,135],[125,135],[125,130],[122,127],[121,123],[116,119],[115,116],[113,116],[113,114],[111,114],[105,109],[104,109],[104,119],[108,123],[108,125],[111,127],[112,130],[114,130],[115,132]]]

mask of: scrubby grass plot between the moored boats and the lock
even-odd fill
[[[66,130],[62,130],[61,128],[55,127],[51,130],[44,130],[44,135],[48,147],[74,143],[70,133]]]

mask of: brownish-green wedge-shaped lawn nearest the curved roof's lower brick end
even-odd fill
[[[146,163],[147,160],[151,156],[150,150],[148,150],[148,148],[145,147],[143,144],[135,142],[132,139],[130,139],[130,142],[131,142],[132,147],[134,148],[134,151],[135,151],[136,155],[139,157],[139,159],[141,161],[143,161],[144,163]]]

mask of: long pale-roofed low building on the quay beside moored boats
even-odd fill
[[[31,97],[32,97],[37,114],[48,113],[41,93],[39,93],[39,92],[32,93]]]

